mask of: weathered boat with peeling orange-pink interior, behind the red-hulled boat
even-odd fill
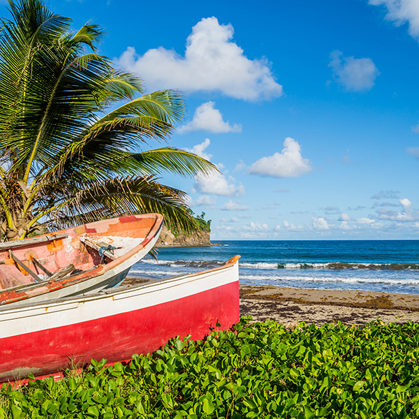
[[[0,244],[0,304],[23,304],[121,284],[159,238],[160,214],[123,216]]]

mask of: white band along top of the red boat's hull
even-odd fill
[[[238,281],[238,263],[101,295],[0,309],[0,339],[127,313]]]

